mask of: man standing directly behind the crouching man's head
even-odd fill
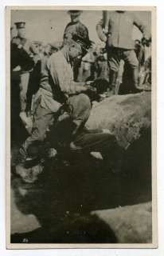
[[[86,39],[89,41],[88,28],[84,26],[83,23],[80,22],[80,14],[82,10],[68,10],[68,14],[70,14],[71,22],[64,29],[64,42],[71,39],[73,35],[77,35],[80,38]],[[73,75],[75,81],[78,81],[79,69],[81,65],[81,58],[76,58],[73,65]]]

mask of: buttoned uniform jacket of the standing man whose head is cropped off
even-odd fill
[[[107,41],[107,46],[130,50],[135,48],[135,43],[132,39],[134,25],[143,32],[143,36],[149,37],[146,26],[135,14],[127,11],[103,12],[103,18],[97,24],[96,31],[101,41]]]

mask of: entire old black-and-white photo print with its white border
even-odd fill
[[[155,8],[6,7],[7,248],[157,246]]]

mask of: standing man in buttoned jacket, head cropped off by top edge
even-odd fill
[[[110,90],[115,94],[115,85],[121,59],[131,70],[132,90],[139,92],[138,69],[139,61],[135,54],[135,43],[132,40],[133,26],[137,26],[148,40],[146,27],[135,17],[135,14],[127,11],[103,11],[103,18],[96,26],[97,34],[101,41],[106,42],[107,61],[110,68]]]

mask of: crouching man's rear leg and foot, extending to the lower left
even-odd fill
[[[35,159],[35,155],[39,158],[41,157],[41,152],[43,154],[45,153],[45,148],[43,146],[41,146],[41,149],[43,148],[43,150],[39,150],[39,142],[43,142],[45,139],[46,131],[53,123],[53,114],[52,111],[46,110],[40,105],[37,107],[33,123],[33,132],[31,136],[25,140],[19,150],[18,164],[15,166],[15,170],[25,182],[34,182],[37,179],[38,174],[41,174],[43,170],[41,162],[35,162],[33,159]],[[38,144],[35,144],[35,142],[38,142]],[[30,146],[33,146],[34,151],[32,148],[29,149]]]

